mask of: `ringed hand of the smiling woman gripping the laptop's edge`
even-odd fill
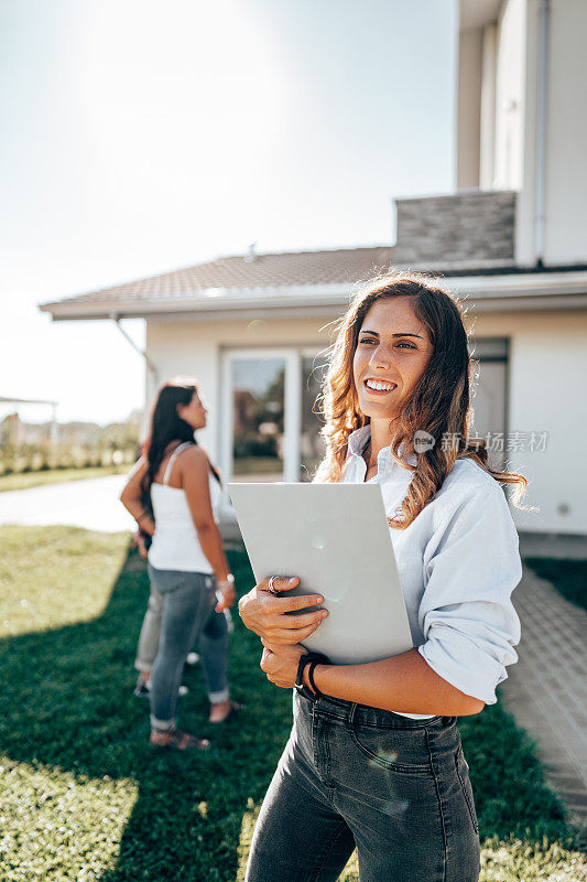
[[[276,591],[290,591],[298,583],[293,576],[278,577],[273,580]],[[305,594],[301,598],[276,598],[269,590],[269,577],[252,588],[239,601],[240,617],[249,631],[259,634],[263,643],[271,646],[296,644],[309,637],[328,615],[326,610],[317,610],[303,615],[284,615],[286,612],[303,610],[323,603],[319,594]]]

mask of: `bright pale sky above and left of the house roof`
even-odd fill
[[[391,196],[449,192],[455,7],[1,0],[0,396],[123,418],[141,358],[39,302],[253,240],[389,243]]]

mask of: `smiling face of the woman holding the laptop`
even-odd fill
[[[377,300],[362,322],[352,362],[361,412],[371,420],[398,417],[432,352],[430,332],[416,318],[410,298]],[[368,383],[384,388],[369,388]]]

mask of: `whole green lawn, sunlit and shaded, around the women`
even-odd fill
[[[205,754],[156,753],[132,696],[148,598],[126,534],[0,529],[0,878],[2,882],[235,882],[291,728],[291,692],[267,682],[238,616],[231,688],[247,708],[205,722],[199,670],[180,724]],[[229,552],[240,592],[252,576]],[[578,882],[587,861],[544,783],[532,743],[501,706],[465,718],[483,845],[481,880]],[[350,862],[343,876],[357,880]],[[279,882],[279,880],[276,880]]]

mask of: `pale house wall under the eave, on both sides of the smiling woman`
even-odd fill
[[[251,322],[149,321],[146,348],[161,380],[192,374],[210,406],[204,447],[219,460],[220,356],[227,347],[316,346],[331,342],[330,319]],[[510,341],[508,431],[550,433],[544,452],[510,452],[509,467],[529,481],[519,529],[587,534],[587,314],[486,313],[474,318],[478,337]]]

